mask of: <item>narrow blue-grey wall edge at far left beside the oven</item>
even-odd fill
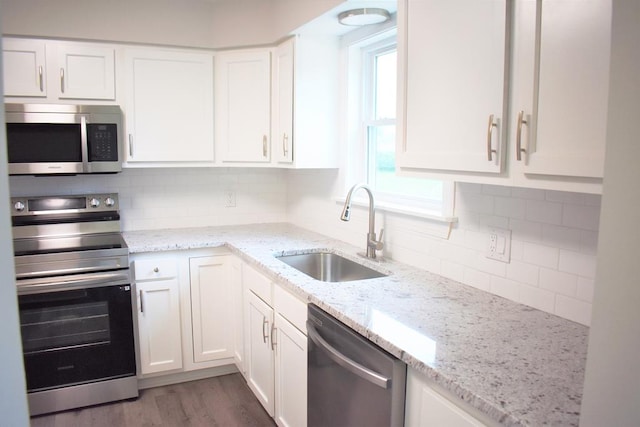
[[[0,5],[2,15],[2,5]],[[1,28],[1,25],[0,25]],[[1,43],[0,43],[1,45]],[[2,57],[0,56],[0,77]],[[0,78],[0,93],[3,91]],[[4,131],[4,105],[0,105],[2,128],[0,147],[6,144]],[[22,362],[22,342],[18,321],[18,298],[13,267],[13,247],[11,245],[11,222],[9,219],[9,183],[7,179],[6,150],[0,150],[0,425],[28,426],[24,365]]]

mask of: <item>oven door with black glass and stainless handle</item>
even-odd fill
[[[18,281],[18,299],[29,392],[135,375],[128,271]]]

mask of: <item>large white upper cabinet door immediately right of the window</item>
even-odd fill
[[[506,0],[398,6],[398,166],[501,172]]]

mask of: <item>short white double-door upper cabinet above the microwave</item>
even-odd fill
[[[115,48],[3,39],[5,97],[115,100]]]

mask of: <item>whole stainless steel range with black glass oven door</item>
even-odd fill
[[[117,195],[11,201],[31,415],[138,396]]]

